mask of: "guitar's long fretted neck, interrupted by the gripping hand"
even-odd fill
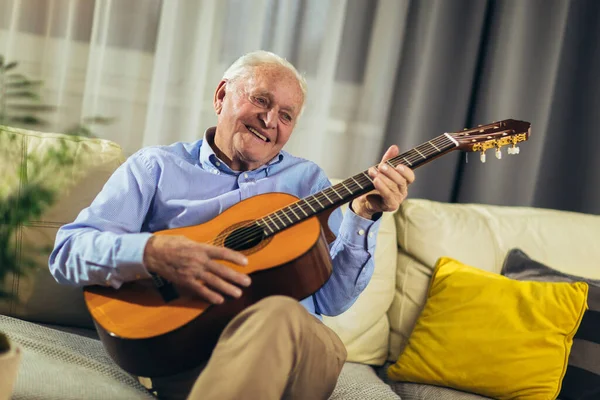
[[[448,134],[443,134],[386,162],[392,168],[405,165],[415,169],[454,150],[456,147],[458,147],[456,140]],[[373,181],[368,170],[365,170],[334,186],[268,214],[257,220],[256,223],[263,228],[266,236],[271,236],[325,210],[339,207],[373,189]]]

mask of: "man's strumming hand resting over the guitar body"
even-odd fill
[[[155,235],[144,249],[144,266],[148,271],[188,287],[210,303],[221,304],[225,300],[222,294],[240,297],[242,291],[234,284],[249,286],[250,277],[216,260],[238,265],[248,263],[242,253],[198,243],[184,236]]]

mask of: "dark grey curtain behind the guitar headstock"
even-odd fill
[[[600,214],[600,1],[413,0],[385,147],[531,122],[519,155],[454,152],[410,197]]]

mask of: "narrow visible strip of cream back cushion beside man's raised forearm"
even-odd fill
[[[339,180],[332,180],[335,184]],[[348,205],[342,206],[347,212]],[[383,213],[375,248],[375,271],[356,302],[341,315],[323,317],[323,322],[342,339],[348,361],[382,365],[389,349],[387,310],[394,296],[396,226],[392,213]]]

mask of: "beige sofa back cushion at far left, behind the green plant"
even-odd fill
[[[60,195],[41,218],[20,227],[15,248],[20,262],[36,267],[27,277],[9,276],[4,289],[13,300],[0,303],[0,313],[29,321],[92,327],[81,288],[59,285],[49,272],[48,257],[58,228],[75,219],[123,161],[121,148],[110,141],[0,127],[3,195],[43,181]],[[69,166],[51,165],[49,154],[64,150]],[[37,162],[34,161],[38,160]],[[40,162],[41,160],[41,162]],[[41,164],[41,165],[40,165]]]

